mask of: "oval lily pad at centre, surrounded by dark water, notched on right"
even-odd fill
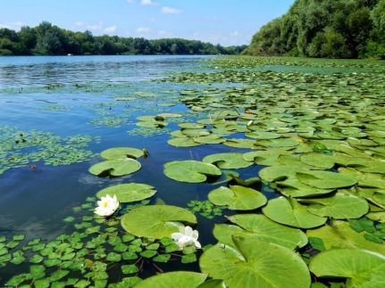
[[[213,164],[182,160],[165,163],[164,175],[180,182],[199,183],[205,182],[207,176],[221,176],[222,171]]]

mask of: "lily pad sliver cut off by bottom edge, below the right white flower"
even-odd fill
[[[158,274],[146,278],[140,282],[136,288],[197,288],[200,284],[205,282],[207,276],[197,272],[175,271]]]

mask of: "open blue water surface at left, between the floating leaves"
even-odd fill
[[[0,58],[0,128],[35,129],[60,137],[100,137],[86,147],[96,153],[115,146],[146,148],[150,152],[149,158],[140,160],[142,169],[114,179],[88,173],[88,168],[100,161],[97,156],[69,166],[54,167],[38,161],[31,163],[32,168],[7,169],[0,174],[0,236],[23,234],[26,241],[36,237],[50,241],[57,235],[71,233],[73,227],[64,223],[63,218],[71,216],[72,209],[84,203],[88,196],[95,196],[97,191],[113,184],[154,185],[157,190],[155,200],[180,207],[186,207],[191,200],[206,200],[212,185],[184,185],[172,181],[163,175],[163,164],[170,160],[201,160],[213,152],[230,152],[230,147],[174,148],[166,143],[170,137],[166,132],[178,129],[177,123],[171,123],[169,130],[160,131],[164,133],[158,135],[144,136],[140,131],[135,135],[130,131],[138,128],[136,118],[139,115],[187,111],[179,102],[179,91],[191,86],[150,79],[162,78],[175,71],[202,70],[202,61],[209,58]],[[130,101],[117,101],[121,97],[130,97]],[[188,121],[191,117],[185,113],[183,120]],[[114,119],[119,121],[114,122]],[[255,177],[255,171],[246,169],[244,176]],[[200,241],[213,243],[213,221],[199,217],[198,222]],[[0,286],[2,281],[21,272],[20,267],[12,265],[0,270]]]

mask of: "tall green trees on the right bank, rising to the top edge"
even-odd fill
[[[385,0],[296,0],[244,53],[385,59]]]

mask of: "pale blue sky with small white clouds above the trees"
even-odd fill
[[[264,23],[294,0],[0,0],[0,27],[50,21],[94,35],[183,37],[213,44],[248,44]]]

